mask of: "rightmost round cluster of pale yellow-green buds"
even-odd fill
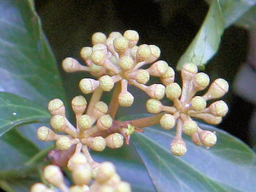
[[[191,117],[201,118],[209,124],[219,124],[228,112],[226,102],[218,100],[206,108],[206,101],[222,97],[229,89],[228,82],[218,78],[213,81],[204,95],[195,95],[209,85],[210,78],[205,73],[198,73],[197,66],[193,63],[182,66],[181,78],[182,89],[174,82],[166,86],[165,95],[172,100],[173,106],[164,106],[161,101],[155,99],[149,99],[146,103],[149,113],[158,114],[165,111],[159,120],[163,129],[169,130],[176,125],[171,151],[178,156],[184,155],[187,151],[186,143],[181,138],[182,132],[190,135],[191,140],[198,146],[204,145],[209,148],[215,144],[217,141],[215,133],[200,129]]]

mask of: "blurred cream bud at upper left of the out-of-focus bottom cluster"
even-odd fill
[[[57,165],[47,165],[44,168],[44,178],[55,187],[62,188],[63,185],[65,185],[63,182],[63,174],[60,167]]]

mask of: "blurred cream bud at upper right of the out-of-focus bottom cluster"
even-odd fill
[[[116,169],[113,163],[103,162],[99,167],[95,180],[98,182],[104,182],[110,179],[115,173]]]

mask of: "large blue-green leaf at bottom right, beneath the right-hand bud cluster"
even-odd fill
[[[138,116],[137,116],[138,118]],[[256,156],[242,141],[213,126],[218,142],[210,149],[198,147],[183,135],[188,151],[182,157],[171,154],[174,130],[147,127],[135,133],[132,141],[146,165],[157,191],[255,191]]]

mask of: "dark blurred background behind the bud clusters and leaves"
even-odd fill
[[[91,46],[90,39],[94,32],[102,31],[108,35],[111,31],[123,33],[127,29],[137,30],[139,44],[159,46],[162,50],[160,59],[175,68],[209,9],[203,0],[36,0],[35,3],[69,100],[81,94],[76,85],[88,74],[67,74],[61,69],[61,61],[74,57],[83,62],[79,51],[84,46]],[[230,83],[230,92],[223,98],[230,111],[218,127],[253,147],[256,144],[255,47],[252,51],[255,34],[254,39],[250,38],[253,37],[253,30],[246,30],[248,26],[244,25],[245,22],[241,20],[225,30],[219,52],[206,65],[205,73],[211,79],[222,77]],[[248,61],[248,55],[254,59]],[[147,96],[139,90],[132,92],[136,95],[132,110],[119,109],[119,114],[146,112]],[[134,109],[134,106],[137,108]]]

